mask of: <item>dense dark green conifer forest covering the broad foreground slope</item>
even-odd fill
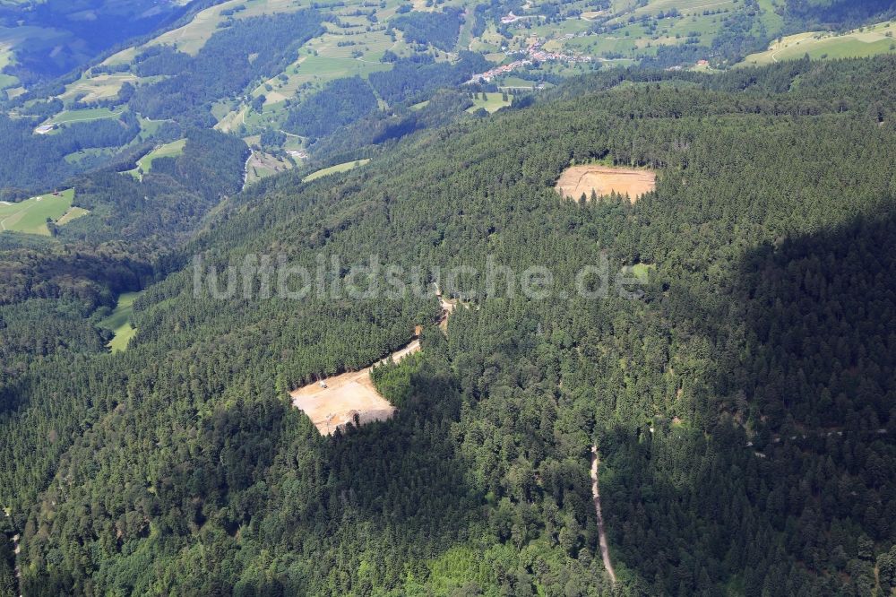
[[[92,216],[0,244],[0,595],[891,594],[894,107],[892,56],[615,69],[307,183],[240,192],[247,148],[211,132],[76,178]],[[597,160],[655,191],[561,200]],[[194,292],[196,255],[478,273],[443,333],[432,294]],[[574,291],[603,260],[637,298]],[[488,263],[554,287],[486,292]],[[416,324],[372,377],[391,420],[322,437],[290,403]]]

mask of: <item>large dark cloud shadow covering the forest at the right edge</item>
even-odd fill
[[[612,552],[650,594],[869,594],[896,540],[896,217],[734,272],[662,307],[711,347],[690,410],[598,432]]]

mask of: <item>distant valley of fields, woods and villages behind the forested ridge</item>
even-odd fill
[[[0,196],[69,184],[191,127],[255,146],[251,185],[333,165],[359,129],[380,144],[444,123],[408,114],[444,91],[526,101],[616,67],[893,53],[894,16],[893,0],[7,0],[0,151],[17,160],[0,164]]]

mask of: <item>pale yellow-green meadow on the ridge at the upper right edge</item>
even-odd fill
[[[746,56],[743,65],[767,65],[782,60],[797,60],[809,55],[825,58],[861,58],[896,52],[896,23],[880,22],[838,34],[832,31],[807,31],[788,35],[773,42],[769,49]]]

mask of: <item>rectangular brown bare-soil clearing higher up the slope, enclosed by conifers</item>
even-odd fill
[[[560,195],[576,200],[582,193],[590,199],[591,191],[594,191],[599,197],[616,192],[637,201],[656,186],[657,174],[652,170],[583,164],[565,169],[555,188]]]

